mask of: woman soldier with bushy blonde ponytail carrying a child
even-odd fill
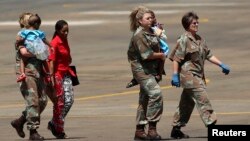
[[[137,7],[130,14],[130,28],[134,32],[128,48],[128,60],[134,78],[140,84],[139,106],[136,116],[134,139],[159,140],[156,131],[163,111],[162,92],[155,76],[161,61],[165,61],[164,53],[160,52],[159,35],[150,29],[153,19],[146,7]],[[149,124],[148,134],[145,125]]]

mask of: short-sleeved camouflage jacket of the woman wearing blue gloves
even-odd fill
[[[189,32],[181,35],[169,58],[179,63],[183,88],[205,87],[204,63],[210,57],[212,53],[203,38],[197,34],[194,38]]]

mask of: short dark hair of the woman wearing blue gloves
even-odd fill
[[[182,17],[182,26],[185,30],[188,30],[190,24],[192,23],[192,20],[196,19],[198,20],[199,17],[197,16],[196,13],[194,12],[187,12],[183,17]]]

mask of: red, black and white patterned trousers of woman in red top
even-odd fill
[[[64,132],[65,117],[74,103],[74,91],[72,81],[68,75],[64,76],[64,78],[56,76],[55,80],[57,103],[53,106],[52,123],[56,131],[62,133]]]

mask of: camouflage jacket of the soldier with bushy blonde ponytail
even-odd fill
[[[154,52],[160,52],[158,37],[139,27],[131,38],[127,52],[134,77],[146,79],[157,75],[160,60],[148,59]]]

